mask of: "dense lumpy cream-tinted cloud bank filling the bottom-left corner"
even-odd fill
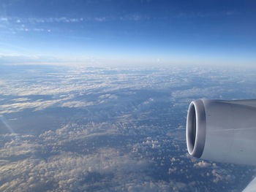
[[[109,190],[115,188],[113,183],[116,181],[119,181],[116,183],[118,188],[131,172],[142,171],[147,166],[143,161],[132,160],[108,148],[93,155],[61,153],[48,158],[48,161],[32,158],[1,166],[2,179],[12,177],[12,180],[1,185],[0,190],[87,191],[94,186]]]

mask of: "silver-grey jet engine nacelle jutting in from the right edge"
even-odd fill
[[[192,101],[186,136],[197,158],[256,165],[256,100]]]

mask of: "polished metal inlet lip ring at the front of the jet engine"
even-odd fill
[[[206,111],[201,99],[189,104],[186,138],[189,155],[200,158],[206,142]]]

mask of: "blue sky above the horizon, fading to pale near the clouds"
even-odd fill
[[[256,1],[2,0],[0,64],[256,64]]]

